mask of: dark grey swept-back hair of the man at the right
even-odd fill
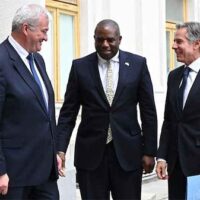
[[[200,40],[200,23],[199,22],[185,22],[183,24],[177,24],[176,29],[186,28],[187,39],[190,42]]]

